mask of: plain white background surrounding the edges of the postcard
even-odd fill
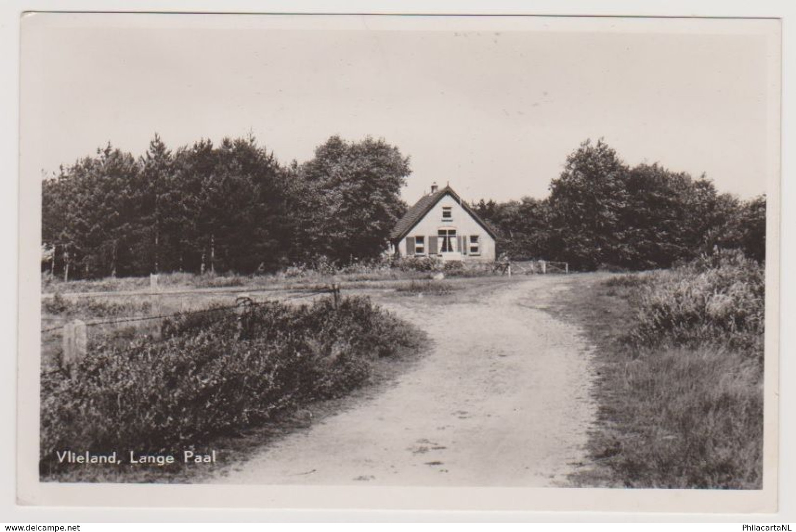
[[[263,511],[219,509],[149,509],[136,508],[42,508],[15,506],[15,410],[16,410],[16,321],[17,321],[17,252],[18,249],[18,17],[22,10],[131,10],[126,2],[10,2],[0,4],[0,227],[3,231],[4,260],[0,261],[5,297],[2,298],[0,334],[3,341],[2,366],[0,366],[0,522],[251,522],[251,521],[540,521],[540,522],[794,522],[796,521],[796,468],[794,468],[794,392],[796,382],[792,358],[794,335],[788,328],[794,316],[794,285],[789,276],[794,265],[793,234],[793,128],[792,111],[794,35],[789,25],[796,23],[796,8],[791,2],[696,2],[694,0],[669,0],[668,2],[456,2],[455,8],[447,2],[401,2],[400,12],[440,14],[599,14],[637,16],[744,16],[783,18],[783,122],[782,122],[782,344],[781,344],[781,420],[780,420],[780,511],[776,515],[661,515],[629,513],[552,513],[552,512],[384,512],[384,511]],[[219,2],[137,2],[140,11],[218,11]],[[395,13],[396,4],[388,2],[224,2],[224,11],[232,12],[341,12],[341,13]],[[455,11],[454,11],[455,9]],[[790,90],[789,90],[790,89]],[[790,148],[790,150],[789,150]],[[87,501],[90,503],[90,501]],[[740,526],[732,527],[740,530]]]

